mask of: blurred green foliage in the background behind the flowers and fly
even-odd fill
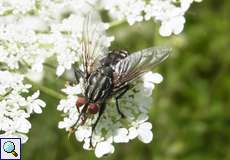
[[[154,140],[115,145],[109,160],[229,160],[230,159],[230,1],[194,3],[182,34],[162,38],[159,25],[146,22],[112,28],[112,48],[136,51],[168,43],[172,55],[155,71],[164,81],[154,90],[150,110]],[[47,68],[44,86],[57,91],[64,80]],[[24,160],[93,160],[74,137],[57,128],[62,119],[58,99],[42,94],[43,114],[31,118]]]

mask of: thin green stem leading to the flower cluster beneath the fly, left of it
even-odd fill
[[[33,80],[29,79],[28,77],[25,77],[25,80],[28,81],[28,83],[30,83],[34,88],[37,88],[39,89],[41,92],[53,97],[53,98],[56,98],[56,99],[64,99],[66,98],[66,96],[62,93],[59,93],[51,88],[48,88],[44,85],[41,85],[37,82],[34,82]]]

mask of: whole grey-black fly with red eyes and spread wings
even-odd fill
[[[140,78],[145,72],[164,61],[170,52],[168,47],[152,47],[129,54],[125,50],[106,51],[104,57],[95,56],[100,49],[100,35],[98,26],[91,24],[91,17],[87,17],[82,31],[83,70],[74,69],[75,77],[83,79],[83,96],[78,97],[76,107],[79,116],[71,131],[83,125],[89,115],[97,114],[96,121],[92,124],[92,136],[101,116],[106,110],[106,100],[115,98],[116,109],[122,118],[125,114],[119,104],[119,99],[130,89],[133,81]],[[95,26],[95,27],[93,27]],[[91,27],[91,29],[89,28]],[[95,33],[99,36],[96,37]],[[95,40],[95,37],[97,38]],[[80,107],[82,109],[80,110]],[[79,121],[81,123],[79,124]]]

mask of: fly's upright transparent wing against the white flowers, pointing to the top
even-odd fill
[[[100,57],[108,52],[109,44],[105,34],[105,24],[96,12],[89,13],[82,26],[81,59],[85,77],[88,77],[99,66]]]

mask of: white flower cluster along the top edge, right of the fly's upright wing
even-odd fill
[[[130,25],[153,18],[160,21],[160,34],[179,34],[184,28],[184,15],[193,1],[201,0],[102,0],[102,6],[113,18],[127,19]]]

